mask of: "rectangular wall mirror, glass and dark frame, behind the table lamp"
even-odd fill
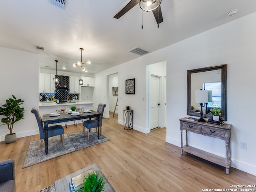
[[[227,120],[227,64],[187,71],[187,115],[200,117],[200,104],[196,103],[196,90],[208,90],[208,104],[203,106],[203,117],[212,118],[210,109],[221,108],[220,119]],[[209,92],[210,91],[210,92]]]

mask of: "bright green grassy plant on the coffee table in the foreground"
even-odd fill
[[[104,191],[104,185],[106,184],[106,180],[104,176],[99,177],[99,173],[89,173],[84,177],[83,187],[81,189],[77,189],[79,192],[101,192]]]

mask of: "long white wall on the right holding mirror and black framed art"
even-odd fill
[[[107,101],[106,76],[118,72],[119,108],[134,109],[134,129],[146,132],[146,65],[166,60],[167,84],[167,132],[166,142],[180,146],[180,118],[186,115],[186,72],[190,69],[228,64],[227,75],[227,118],[231,130],[231,166],[256,175],[256,129],[254,110],[256,95],[256,13],[228,24],[203,32],[156,52],[95,75],[98,82],[97,100]],[[136,69],[136,70],[135,70]],[[125,80],[135,78],[135,95],[125,94]],[[101,82],[101,84],[99,83]],[[122,111],[118,122],[123,123]],[[225,155],[223,140],[189,133],[189,143],[208,152]],[[247,142],[247,150],[240,149],[240,141]]]

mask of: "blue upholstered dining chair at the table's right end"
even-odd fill
[[[106,107],[106,104],[100,103],[98,105],[98,109],[97,109],[97,112],[100,113],[100,134],[101,134],[101,126],[102,126],[102,117],[103,117],[103,112],[104,112],[105,107]],[[87,139],[89,139],[89,131],[91,128],[96,128],[96,132],[97,132],[98,120],[86,120],[86,121],[84,121],[83,126],[84,126],[83,134],[85,132],[85,127],[86,127],[87,128]]]

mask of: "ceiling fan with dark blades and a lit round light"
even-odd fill
[[[126,6],[124,6],[124,8],[122,8],[122,10],[120,10],[120,12],[118,12],[118,14],[114,16],[114,18],[119,19],[138,3],[140,3],[140,8],[142,10],[153,12],[156,23],[159,27],[159,24],[164,21],[160,7],[161,0],[131,0]]]

